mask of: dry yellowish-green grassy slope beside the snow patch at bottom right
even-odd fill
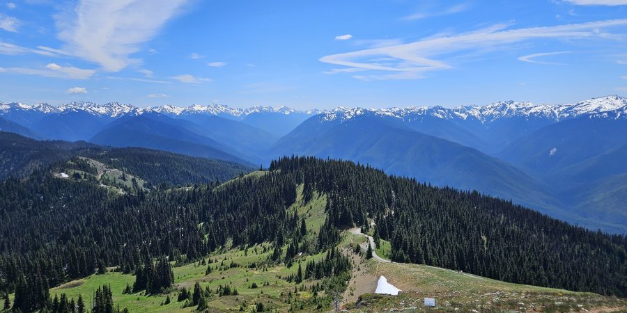
[[[445,268],[417,264],[360,264],[365,276],[387,281],[403,290],[399,296],[362,294],[347,303],[349,310],[426,310],[424,298],[435,298],[436,312],[624,312],[627,300],[562,289],[511,284]],[[364,284],[364,281],[360,281]],[[367,283],[365,283],[367,284]],[[355,287],[355,284],[351,284]],[[473,311],[475,310],[475,311]]]

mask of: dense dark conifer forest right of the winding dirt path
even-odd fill
[[[270,170],[327,193],[327,223],[370,217],[392,259],[545,287],[627,296],[627,238],[592,232],[509,201],[420,184],[348,161],[290,157]],[[322,234],[320,236],[323,236]]]

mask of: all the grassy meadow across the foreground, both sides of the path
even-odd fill
[[[260,177],[257,171],[248,177]],[[238,178],[240,179],[240,178]],[[226,182],[225,184],[229,184]],[[305,218],[308,236],[314,237],[325,220],[326,195],[314,192],[310,202],[303,202],[303,186],[297,186],[297,200],[288,211],[297,212]],[[511,284],[499,280],[482,278],[477,275],[460,273],[444,268],[417,264],[382,263],[375,259],[366,260],[364,250],[355,254],[355,246],[366,242],[361,234],[342,233],[339,248],[346,255],[353,257],[353,273],[343,295],[342,307],[351,312],[380,312],[382,310],[422,310],[424,297],[436,299],[435,310],[438,312],[501,312],[505,310],[535,310],[539,312],[587,312],[597,308],[627,309],[627,300],[614,297],[598,296],[591,293],[571,292],[562,289],[534,287],[523,284]],[[382,241],[376,248],[379,255],[389,253],[389,243]],[[219,250],[202,261],[191,264],[176,264],[173,267],[175,284],[169,292],[156,296],[147,296],[144,291],[135,294],[123,294],[128,285],[133,284],[134,276],[119,272],[104,275],[91,275],[88,278],[65,283],[50,289],[50,294],[66,294],[70,298],[79,295],[89,303],[95,289],[103,284],[110,284],[114,302],[126,307],[130,312],[194,312],[195,307],[185,307],[185,301],[178,301],[180,289],[191,289],[199,282],[203,289],[218,289],[228,285],[238,291],[237,296],[219,296],[209,299],[210,312],[254,311],[256,303],[263,303],[269,312],[320,312],[332,310],[330,299],[322,299],[325,292],[316,296],[308,290],[300,290],[321,284],[321,280],[306,280],[303,284],[288,282],[284,277],[295,274],[297,266],[287,268],[284,265],[267,266],[265,260],[270,257],[272,247],[269,243],[247,248]],[[312,259],[319,260],[325,253],[302,255],[303,264]],[[204,262],[204,264],[203,264]],[[231,264],[237,264],[232,267]],[[255,264],[253,266],[252,264]],[[212,272],[206,274],[210,266]],[[403,290],[400,296],[376,295],[376,282],[384,275],[388,282]],[[256,284],[256,288],[251,288]],[[296,290],[296,291],[295,291]],[[167,298],[171,302],[166,304]],[[318,306],[320,303],[322,307]],[[301,306],[302,305],[302,306]]]

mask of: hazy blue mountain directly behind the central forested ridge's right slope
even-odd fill
[[[556,204],[539,181],[518,168],[394,118],[365,113],[343,122],[324,119],[318,115],[304,122],[272,147],[272,155],[349,159],[431,184],[511,198],[541,211]]]

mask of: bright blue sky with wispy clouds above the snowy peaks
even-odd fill
[[[0,1],[0,101],[335,106],[627,94],[627,0]]]

